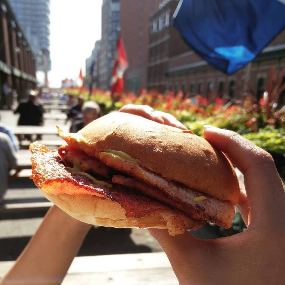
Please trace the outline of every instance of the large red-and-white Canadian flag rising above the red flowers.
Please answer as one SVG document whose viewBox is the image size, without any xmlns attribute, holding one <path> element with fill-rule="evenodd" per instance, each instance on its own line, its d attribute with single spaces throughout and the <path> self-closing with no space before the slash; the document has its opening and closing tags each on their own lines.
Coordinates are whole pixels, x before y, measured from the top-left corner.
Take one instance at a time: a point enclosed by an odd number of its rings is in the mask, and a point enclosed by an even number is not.
<svg viewBox="0 0 285 285">
<path fill-rule="evenodd" d="M 123 75 L 125 70 L 128 68 L 128 60 L 126 57 L 126 52 L 121 37 L 118 37 L 117 42 L 117 52 L 115 57 L 115 63 L 113 67 L 113 74 L 111 80 L 111 96 L 113 98 L 115 93 L 123 92 L 124 90 L 124 80 Z"/>
</svg>

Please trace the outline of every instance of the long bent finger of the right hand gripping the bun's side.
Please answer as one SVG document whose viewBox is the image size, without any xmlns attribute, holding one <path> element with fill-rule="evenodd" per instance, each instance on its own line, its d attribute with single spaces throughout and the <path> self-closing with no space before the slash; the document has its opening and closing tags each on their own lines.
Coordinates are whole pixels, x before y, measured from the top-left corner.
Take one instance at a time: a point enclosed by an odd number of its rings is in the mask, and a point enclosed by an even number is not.
<svg viewBox="0 0 285 285">
<path fill-rule="evenodd" d="M 244 174 L 251 220 L 270 223 L 285 215 L 285 194 L 274 161 L 269 153 L 239 134 L 205 126 L 204 137 L 230 159 Z"/>
</svg>

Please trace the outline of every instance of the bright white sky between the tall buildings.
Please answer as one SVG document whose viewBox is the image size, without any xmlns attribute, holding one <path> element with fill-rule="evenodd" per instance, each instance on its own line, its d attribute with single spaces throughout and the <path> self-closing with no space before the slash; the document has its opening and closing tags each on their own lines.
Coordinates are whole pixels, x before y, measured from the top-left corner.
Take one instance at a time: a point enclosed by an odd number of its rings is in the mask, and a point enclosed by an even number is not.
<svg viewBox="0 0 285 285">
<path fill-rule="evenodd" d="M 85 59 L 101 39 L 102 0 L 50 0 L 50 87 L 61 80 L 85 75 Z M 43 82 L 43 72 L 37 79 Z"/>
</svg>

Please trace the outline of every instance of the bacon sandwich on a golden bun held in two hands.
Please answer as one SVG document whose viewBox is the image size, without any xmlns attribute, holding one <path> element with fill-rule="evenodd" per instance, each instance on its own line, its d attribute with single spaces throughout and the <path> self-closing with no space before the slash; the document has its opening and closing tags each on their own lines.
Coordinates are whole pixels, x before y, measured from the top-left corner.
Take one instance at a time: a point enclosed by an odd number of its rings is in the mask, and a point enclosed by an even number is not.
<svg viewBox="0 0 285 285">
<path fill-rule="evenodd" d="M 110 113 L 50 151 L 30 145 L 34 183 L 70 216 L 116 228 L 168 229 L 207 221 L 228 229 L 239 200 L 227 157 L 191 131 L 128 113 Z"/>
</svg>

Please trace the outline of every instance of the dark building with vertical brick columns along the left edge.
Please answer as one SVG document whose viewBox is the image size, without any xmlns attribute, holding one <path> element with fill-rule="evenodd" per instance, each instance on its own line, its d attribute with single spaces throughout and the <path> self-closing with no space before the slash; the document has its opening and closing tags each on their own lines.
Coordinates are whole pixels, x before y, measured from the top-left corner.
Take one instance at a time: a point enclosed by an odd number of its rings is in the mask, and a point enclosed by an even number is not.
<svg viewBox="0 0 285 285">
<path fill-rule="evenodd" d="M 0 97 L 3 84 L 16 89 L 24 97 L 36 84 L 36 58 L 6 0 L 0 0 Z M 11 98 L 6 98 L 7 104 Z M 2 102 L 3 103 L 3 102 Z"/>
</svg>

